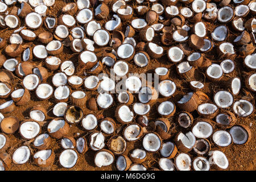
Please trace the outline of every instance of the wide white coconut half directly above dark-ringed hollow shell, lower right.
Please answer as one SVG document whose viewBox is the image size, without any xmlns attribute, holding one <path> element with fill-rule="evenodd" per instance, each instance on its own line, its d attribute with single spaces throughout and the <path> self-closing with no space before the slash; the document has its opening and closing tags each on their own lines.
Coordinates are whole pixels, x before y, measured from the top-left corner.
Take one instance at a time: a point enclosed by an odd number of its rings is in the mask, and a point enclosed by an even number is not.
<svg viewBox="0 0 256 182">
<path fill-rule="evenodd" d="M 197 122 L 192 128 L 192 133 L 197 138 L 208 138 L 213 133 L 213 127 L 208 122 Z"/>
</svg>

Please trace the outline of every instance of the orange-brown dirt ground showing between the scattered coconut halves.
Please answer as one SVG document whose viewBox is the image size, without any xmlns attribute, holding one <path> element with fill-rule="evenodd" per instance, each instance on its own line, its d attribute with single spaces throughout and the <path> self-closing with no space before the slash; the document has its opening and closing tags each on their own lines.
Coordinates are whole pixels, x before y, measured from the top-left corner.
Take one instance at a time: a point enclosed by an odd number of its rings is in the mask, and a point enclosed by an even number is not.
<svg viewBox="0 0 256 182">
<path fill-rule="evenodd" d="M 56 15 L 56 16 L 60 15 L 59 10 L 61 9 L 61 7 L 63 7 L 63 5 L 64 5 L 64 1 L 55 1 L 55 5 L 52 7 L 52 9 L 49 10 L 49 14 Z M 126 23 L 129 23 L 129 22 L 126 22 Z M 210 31 L 213 30 L 214 25 L 210 24 L 210 23 L 207 23 L 207 24 L 208 24 L 207 28 L 208 28 L 208 34 L 209 34 Z M 23 26 L 23 25 L 24 25 L 24 22 L 21 22 L 20 26 Z M 123 27 L 126 27 L 126 26 L 123 26 Z M 18 29 L 18 28 L 15 28 L 15 29 Z M 14 30 L 10 30 L 10 29 L 3 30 L 0 28 L 0 36 L 3 38 L 9 38 L 10 35 L 13 33 L 13 31 Z M 51 31 L 53 33 L 53 30 L 47 30 L 46 27 L 44 27 L 44 26 L 42 26 L 38 30 L 35 30 L 35 33 L 36 33 L 36 35 L 38 35 L 40 32 L 43 32 L 43 31 Z M 232 34 L 233 33 L 230 32 L 230 35 L 232 35 Z M 135 36 L 134 38 L 138 40 L 137 36 Z M 156 44 L 160 44 L 159 39 L 154 39 L 153 42 Z M 35 41 L 32 43 L 28 43 L 28 42 L 25 42 L 25 43 L 36 44 L 38 42 Z M 173 45 L 177 45 L 177 44 L 174 43 Z M 165 49 L 167 49 L 167 48 L 168 47 L 165 47 Z M 3 49 L 1 50 L 1 52 L 3 53 Z M 63 53 L 58 55 L 58 57 L 62 61 L 72 60 L 73 63 L 77 66 L 77 63 L 78 63 L 77 56 L 78 55 L 79 54 L 73 53 L 69 48 L 65 47 Z M 216 53 L 214 51 L 212 51 L 212 52 L 206 53 L 204 55 L 204 57 L 208 57 L 210 60 L 212 60 L 213 63 L 220 64 L 221 59 L 218 59 L 217 56 L 214 57 L 214 55 L 216 55 Z M 18 57 L 17 59 L 18 59 L 18 61 L 20 61 L 20 57 Z M 207 93 L 210 98 L 213 98 L 213 93 L 217 92 L 218 90 L 221 90 L 221 89 L 230 90 L 229 85 L 227 84 L 228 83 L 227 81 L 230 78 L 238 76 L 238 77 L 242 78 L 242 80 L 243 80 L 242 72 L 243 71 L 247 72 L 244 65 L 242 64 L 243 57 L 237 56 L 236 60 L 234 60 L 234 61 L 236 62 L 236 70 L 228 75 L 224 75 L 223 79 L 220 82 L 209 81 L 205 77 L 204 69 L 196 69 L 195 76 L 194 76 L 194 78 L 191 78 L 191 80 L 197 80 L 197 81 L 203 82 L 203 84 L 205 85 L 203 92 Z M 39 64 L 44 65 L 44 63 L 43 63 L 44 61 L 33 60 L 32 62 L 35 63 L 36 65 L 39 65 Z M 131 72 L 131 73 L 145 73 L 145 72 L 151 73 L 152 70 L 157 67 L 166 67 L 166 68 L 170 69 L 170 78 L 169 79 L 174 81 L 177 86 L 176 92 L 173 96 L 167 97 L 167 98 L 159 96 L 159 100 L 156 101 L 154 104 L 151 104 L 151 111 L 147 115 L 148 119 L 150 121 L 154 121 L 156 118 L 160 117 L 160 115 L 158 115 L 158 113 L 157 113 L 157 107 L 161 102 L 168 100 L 168 101 L 172 101 L 172 102 L 176 103 L 181 98 L 181 96 L 183 94 L 190 91 L 188 83 L 191 80 L 184 80 L 183 78 L 179 77 L 176 72 L 176 66 L 174 64 L 172 64 L 170 61 L 168 61 L 166 55 L 164 55 L 159 60 L 151 60 L 150 63 L 148 63 L 147 67 L 143 67 L 143 68 L 138 68 L 132 61 L 128 64 L 129 64 L 129 72 Z M 109 72 L 109 69 L 110 68 L 104 66 L 104 72 Z M 47 79 L 48 83 L 51 83 L 51 79 L 52 79 L 52 76 L 54 73 L 56 73 L 56 72 L 49 72 L 49 78 Z M 76 72 L 75 72 L 75 75 L 77 75 Z M 82 78 L 85 77 L 82 73 L 78 76 L 81 76 Z M 20 82 L 21 80 L 19 78 L 16 78 L 16 79 L 17 79 L 17 81 L 15 81 L 15 88 L 22 88 L 22 82 Z M 244 88 L 245 87 L 244 82 L 242 82 L 242 84 L 243 84 L 242 87 Z M 96 91 L 91 92 L 91 91 L 85 90 L 84 87 L 81 87 L 80 89 L 86 91 L 88 98 L 97 97 L 98 93 Z M 236 96 L 234 98 L 234 100 L 237 101 L 240 98 L 245 98 L 246 100 L 250 100 L 251 102 L 253 102 L 255 104 L 255 102 L 254 102 L 255 94 L 249 93 L 247 91 L 247 89 L 242 89 L 240 94 L 238 94 L 238 96 Z M 49 100 L 40 101 L 40 100 L 38 100 L 38 98 L 35 97 L 35 93 L 31 92 L 31 101 L 28 102 L 27 105 L 17 106 L 16 109 L 12 113 L 4 114 L 4 115 L 5 115 L 5 117 L 12 115 L 12 116 L 17 117 L 20 121 L 23 121 L 24 119 L 28 119 L 28 117 L 29 117 L 28 111 L 31 109 L 32 106 L 42 105 L 48 111 L 46 121 L 44 121 L 42 124 L 43 127 L 42 127 L 41 133 L 44 133 L 44 132 L 46 132 L 48 122 L 51 121 L 52 118 L 54 118 L 54 115 L 52 113 L 52 108 L 55 104 L 56 104 L 56 102 L 52 98 L 50 98 Z M 71 104 L 71 103 L 68 102 L 68 104 Z M 117 104 L 117 100 L 115 97 L 113 105 L 110 106 L 106 110 L 99 110 L 99 111 L 93 112 L 93 111 L 87 109 L 86 106 L 82 107 L 82 109 L 83 109 L 85 115 L 89 114 L 89 113 L 93 113 L 95 115 L 103 114 L 104 117 L 114 118 L 114 110 L 115 110 L 115 107 L 117 107 L 117 106 L 118 106 L 118 104 Z M 179 108 L 176 108 L 176 113 L 178 113 L 179 111 L 180 111 Z M 194 111 L 192 114 L 193 114 L 194 118 L 199 117 L 199 115 L 196 113 L 196 111 Z M 137 117 L 138 116 L 135 115 L 135 118 L 137 118 Z M 185 130 L 181 129 L 179 126 L 177 126 L 174 118 L 175 118 L 175 115 L 174 115 L 174 117 L 171 117 L 169 119 L 172 124 L 171 125 L 171 133 L 173 134 L 172 135 L 173 138 L 171 139 L 172 141 L 173 141 L 177 131 L 185 131 Z M 231 146 L 228 146 L 228 147 L 214 147 L 214 145 L 212 144 L 212 150 L 221 150 L 227 156 L 227 158 L 229 160 L 228 170 L 255 170 L 256 169 L 256 148 L 255 148 L 256 147 L 256 140 L 255 140 L 256 126 L 255 126 L 255 121 L 256 121 L 255 114 L 254 115 L 252 114 L 247 118 L 237 117 L 237 124 L 243 124 L 243 125 L 250 127 L 252 136 L 251 136 L 250 142 L 248 142 L 247 144 L 245 144 L 243 146 L 237 146 L 236 144 L 232 144 Z M 121 124 L 117 123 L 117 128 L 118 127 L 123 127 L 123 126 Z M 99 127 L 97 127 L 96 130 L 100 131 Z M 122 131 L 120 131 L 120 132 L 122 132 Z M 80 135 L 77 136 L 77 133 L 80 133 Z M 73 137 L 75 137 L 76 139 L 78 137 L 85 137 L 86 139 L 88 139 L 89 133 L 85 130 L 82 130 L 81 123 L 77 123 L 76 125 L 72 125 L 71 135 Z M 96 167 L 93 162 L 94 154 L 96 152 L 94 152 L 92 150 L 88 150 L 88 152 L 86 152 L 84 155 L 79 154 L 79 160 L 75 167 L 73 167 L 71 169 L 61 167 L 59 164 L 58 156 L 63 149 L 60 146 L 60 140 L 56 140 L 56 139 L 52 140 L 52 143 L 50 146 L 50 148 L 52 148 L 52 150 L 56 154 L 54 164 L 48 168 L 40 168 L 40 167 L 36 166 L 36 164 L 34 163 L 34 160 L 32 159 L 32 155 L 35 154 L 36 151 L 38 151 L 38 150 L 35 150 L 35 148 L 33 148 L 33 146 L 32 146 L 33 140 L 26 141 L 26 140 L 22 139 L 18 132 L 16 132 L 14 135 L 9 135 L 9 137 L 11 139 L 11 147 L 7 150 L 7 152 L 11 156 L 13 155 L 13 152 L 15 151 L 15 149 L 22 146 L 23 144 L 26 144 L 27 146 L 29 146 L 31 148 L 31 152 L 32 152 L 31 158 L 30 158 L 30 160 L 28 160 L 27 163 L 22 164 L 22 165 L 12 164 L 12 166 L 9 168 L 9 170 L 93 170 L 93 171 L 94 170 L 116 170 L 115 163 L 113 163 L 111 166 L 108 166 L 108 167 L 102 167 L 102 168 Z M 109 139 L 109 137 L 106 137 L 106 140 L 108 140 L 108 139 Z M 125 151 L 124 154 L 128 155 L 129 152 L 131 150 L 133 150 L 133 148 L 135 148 L 135 147 L 139 147 L 139 148 L 142 147 L 142 138 L 135 142 L 127 142 L 127 150 Z M 193 152 L 189 152 L 189 155 L 191 156 L 191 158 L 196 157 L 196 155 Z M 147 153 L 147 160 L 145 162 L 143 162 L 143 164 L 147 168 L 151 168 L 151 167 L 159 168 L 158 160 L 160 159 L 160 157 L 161 157 L 160 152 L 155 152 L 154 154 Z"/>
</svg>

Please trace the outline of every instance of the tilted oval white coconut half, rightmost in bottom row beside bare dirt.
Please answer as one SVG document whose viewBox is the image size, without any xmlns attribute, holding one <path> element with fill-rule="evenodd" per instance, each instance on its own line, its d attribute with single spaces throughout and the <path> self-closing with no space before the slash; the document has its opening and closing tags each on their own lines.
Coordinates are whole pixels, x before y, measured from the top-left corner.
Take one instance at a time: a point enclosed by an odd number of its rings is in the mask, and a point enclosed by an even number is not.
<svg viewBox="0 0 256 182">
<path fill-rule="evenodd" d="M 210 165 L 216 164 L 218 167 L 222 169 L 228 168 L 229 161 L 223 152 L 218 150 L 210 151 L 209 156 L 210 156 L 209 158 Z"/>
</svg>

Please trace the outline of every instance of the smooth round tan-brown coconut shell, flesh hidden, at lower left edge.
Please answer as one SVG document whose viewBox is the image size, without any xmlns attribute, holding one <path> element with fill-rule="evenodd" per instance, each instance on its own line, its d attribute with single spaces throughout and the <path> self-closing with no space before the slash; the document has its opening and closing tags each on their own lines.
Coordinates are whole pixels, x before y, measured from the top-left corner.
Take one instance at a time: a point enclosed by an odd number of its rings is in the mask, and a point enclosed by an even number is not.
<svg viewBox="0 0 256 182">
<path fill-rule="evenodd" d="M 3 118 L 0 128 L 3 133 L 13 134 L 19 129 L 19 120 L 16 117 Z"/>
</svg>

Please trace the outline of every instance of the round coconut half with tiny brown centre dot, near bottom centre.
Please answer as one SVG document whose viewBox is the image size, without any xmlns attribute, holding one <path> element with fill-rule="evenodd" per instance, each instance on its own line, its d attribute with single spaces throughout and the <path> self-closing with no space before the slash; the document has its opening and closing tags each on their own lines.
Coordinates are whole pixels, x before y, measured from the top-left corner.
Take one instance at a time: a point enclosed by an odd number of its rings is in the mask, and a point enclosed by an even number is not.
<svg viewBox="0 0 256 182">
<path fill-rule="evenodd" d="M 158 151 L 161 147 L 161 140 L 158 135 L 154 133 L 148 133 L 143 138 L 143 147 L 150 152 Z"/>
</svg>

